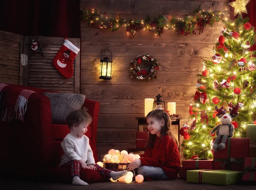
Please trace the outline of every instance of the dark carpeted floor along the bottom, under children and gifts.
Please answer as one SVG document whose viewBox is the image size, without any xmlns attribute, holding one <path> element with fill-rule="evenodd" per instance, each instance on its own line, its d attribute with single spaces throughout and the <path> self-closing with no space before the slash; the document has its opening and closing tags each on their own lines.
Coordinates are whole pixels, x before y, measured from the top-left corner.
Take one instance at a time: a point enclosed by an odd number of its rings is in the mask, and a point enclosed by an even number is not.
<svg viewBox="0 0 256 190">
<path fill-rule="evenodd" d="M 187 183 L 186 180 L 178 177 L 172 181 L 143 181 L 125 184 L 111 181 L 89 184 L 89 186 L 75 186 L 72 184 L 42 182 L 28 179 L 0 179 L 1 190 L 256 190 L 256 184 L 240 183 L 236 185 L 220 186 L 210 184 Z"/>
</svg>

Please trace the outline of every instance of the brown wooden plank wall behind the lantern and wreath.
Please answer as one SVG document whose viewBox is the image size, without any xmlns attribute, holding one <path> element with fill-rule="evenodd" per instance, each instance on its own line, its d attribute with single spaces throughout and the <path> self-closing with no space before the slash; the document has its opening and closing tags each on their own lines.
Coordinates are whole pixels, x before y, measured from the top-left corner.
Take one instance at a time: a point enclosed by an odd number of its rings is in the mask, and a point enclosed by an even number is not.
<svg viewBox="0 0 256 190">
<path fill-rule="evenodd" d="M 146 15 L 172 14 L 183 17 L 199 5 L 203 9 L 225 10 L 228 0 L 81 0 L 81 9 L 97 9 L 110 16 L 143 19 Z M 201 35 L 177 35 L 165 30 L 162 37 L 138 32 L 131 39 L 125 27 L 117 32 L 87 27 L 81 22 L 81 93 L 99 101 L 97 150 L 101 157 L 111 148 L 135 147 L 137 120 L 144 116 L 144 98 L 160 93 L 166 102 L 176 102 L 177 114 L 189 119 L 189 101 L 195 94 L 202 60 L 212 57 L 222 23 L 207 26 Z M 100 51 L 113 54 L 112 80 L 99 79 Z M 150 54 L 161 66 L 155 81 L 138 81 L 129 76 L 129 63 L 137 55 Z M 185 122 L 185 120 L 184 120 Z M 177 126 L 173 126 L 177 136 Z M 181 142 L 183 141 L 182 136 Z M 183 153 L 181 149 L 181 160 Z"/>
</svg>

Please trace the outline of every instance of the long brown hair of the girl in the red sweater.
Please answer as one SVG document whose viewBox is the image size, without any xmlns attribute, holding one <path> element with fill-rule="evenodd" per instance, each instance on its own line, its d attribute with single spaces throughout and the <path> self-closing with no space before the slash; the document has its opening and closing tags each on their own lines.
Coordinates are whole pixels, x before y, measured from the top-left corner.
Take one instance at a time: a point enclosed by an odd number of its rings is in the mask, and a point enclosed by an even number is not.
<svg viewBox="0 0 256 190">
<path fill-rule="evenodd" d="M 155 109 L 148 113 L 146 119 L 149 117 L 156 118 L 158 121 L 164 120 L 164 126 L 161 128 L 161 131 L 160 131 L 161 138 L 163 138 L 164 135 L 169 135 L 172 139 L 176 141 L 178 145 L 177 139 L 172 134 L 172 128 L 171 128 L 172 120 L 166 111 L 164 111 L 163 109 Z M 147 148 L 154 147 L 154 141 L 156 140 L 156 138 L 157 138 L 157 135 L 151 135 L 151 133 L 149 133 Z"/>
</svg>

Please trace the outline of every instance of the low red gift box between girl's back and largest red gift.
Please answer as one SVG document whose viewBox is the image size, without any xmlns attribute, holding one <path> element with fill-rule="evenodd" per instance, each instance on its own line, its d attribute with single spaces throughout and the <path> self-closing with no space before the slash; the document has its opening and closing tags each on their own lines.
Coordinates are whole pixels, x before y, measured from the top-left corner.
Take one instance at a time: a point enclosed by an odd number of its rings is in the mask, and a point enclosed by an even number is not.
<svg viewBox="0 0 256 190">
<path fill-rule="evenodd" d="M 213 169 L 213 159 L 208 160 L 184 160 L 182 161 L 181 177 L 186 179 L 187 170 Z"/>
</svg>

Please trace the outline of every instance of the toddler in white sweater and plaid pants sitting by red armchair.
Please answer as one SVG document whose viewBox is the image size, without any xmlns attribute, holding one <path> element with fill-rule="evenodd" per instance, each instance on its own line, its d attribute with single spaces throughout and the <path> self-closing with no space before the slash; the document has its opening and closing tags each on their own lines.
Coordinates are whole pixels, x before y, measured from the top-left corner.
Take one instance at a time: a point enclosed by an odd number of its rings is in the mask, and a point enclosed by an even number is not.
<svg viewBox="0 0 256 190">
<path fill-rule="evenodd" d="M 88 125 L 92 122 L 92 117 L 86 110 L 71 112 L 66 121 L 70 133 L 61 142 L 64 155 L 61 157 L 60 167 L 71 167 L 73 185 L 88 185 L 79 177 L 80 171 L 83 169 L 97 170 L 102 176 L 113 178 L 113 180 L 127 173 L 126 170 L 114 172 L 95 164 L 89 138 L 84 135 L 87 132 Z"/>
</svg>

